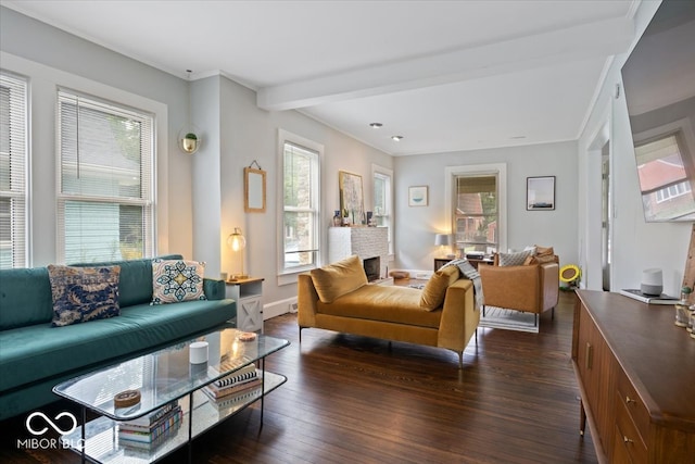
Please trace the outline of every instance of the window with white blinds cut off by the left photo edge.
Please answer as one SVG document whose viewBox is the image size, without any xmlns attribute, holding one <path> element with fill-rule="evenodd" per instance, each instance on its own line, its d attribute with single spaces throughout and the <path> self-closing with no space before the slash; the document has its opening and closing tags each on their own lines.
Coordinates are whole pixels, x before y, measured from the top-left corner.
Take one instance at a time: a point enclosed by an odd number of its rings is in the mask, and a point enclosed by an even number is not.
<svg viewBox="0 0 695 464">
<path fill-rule="evenodd" d="M 0 72 L 0 268 L 27 265 L 27 84 Z"/>
</svg>

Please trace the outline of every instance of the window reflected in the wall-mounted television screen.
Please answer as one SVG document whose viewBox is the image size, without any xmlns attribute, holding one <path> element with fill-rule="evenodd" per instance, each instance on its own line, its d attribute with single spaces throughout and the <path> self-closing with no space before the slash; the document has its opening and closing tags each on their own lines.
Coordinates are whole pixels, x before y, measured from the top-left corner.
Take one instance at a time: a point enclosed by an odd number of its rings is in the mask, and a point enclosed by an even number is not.
<svg viewBox="0 0 695 464">
<path fill-rule="evenodd" d="M 635 145 L 637 175 L 647 221 L 695 217 L 695 198 L 680 131 Z"/>
</svg>

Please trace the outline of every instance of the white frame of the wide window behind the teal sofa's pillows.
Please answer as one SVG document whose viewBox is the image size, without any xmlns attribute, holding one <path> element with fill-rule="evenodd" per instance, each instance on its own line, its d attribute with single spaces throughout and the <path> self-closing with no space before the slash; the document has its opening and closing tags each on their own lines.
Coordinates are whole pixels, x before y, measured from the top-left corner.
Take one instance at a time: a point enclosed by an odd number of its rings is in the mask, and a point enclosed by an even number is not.
<svg viewBox="0 0 695 464">
<path fill-rule="evenodd" d="M 141 147 L 144 147 L 146 153 L 140 158 L 140 188 L 139 198 L 136 197 L 117 197 L 117 196 L 96 196 L 96 195 L 77 195 L 64 192 L 63 186 L 63 152 L 62 152 L 62 111 L 61 104 L 67 101 L 68 98 L 74 98 L 77 104 L 84 102 L 85 106 L 92 106 L 96 111 L 102 111 L 108 113 L 112 110 L 111 114 L 118 116 L 132 115 L 132 118 L 139 118 L 140 122 L 146 122 L 149 125 L 149 139 L 141 142 Z M 66 262 L 66 241 L 67 235 L 65 230 L 65 209 L 68 202 L 79 202 L 83 204 L 103 204 L 112 203 L 123 206 L 139 206 L 142 208 L 142 256 L 153 256 L 156 250 L 156 208 L 155 208 L 155 178 L 156 178 L 156 117 L 150 111 L 136 109 L 125 103 L 114 102 L 105 100 L 98 96 L 88 95 L 78 90 L 74 90 L 66 87 L 56 88 L 56 109 L 55 109 L 55 152 L 56 152 L 56 184 L 55 184 L 55 204 L 56 204 L 56 260 L 60 263 Z M 103 165 L 102 165 L 103 166 Z M 118 251 L 121 252 L 121 251 Z M 127 256 L 121 256 L 126 259 Z M 75 260 L 70 260 L 71 262 Z M 90 261 L 89 259 L 79 259 L 78 262 Z M 98 256 L 94 261 L 111 261 L 111 259 L 103 259 Z"/>
</svg>

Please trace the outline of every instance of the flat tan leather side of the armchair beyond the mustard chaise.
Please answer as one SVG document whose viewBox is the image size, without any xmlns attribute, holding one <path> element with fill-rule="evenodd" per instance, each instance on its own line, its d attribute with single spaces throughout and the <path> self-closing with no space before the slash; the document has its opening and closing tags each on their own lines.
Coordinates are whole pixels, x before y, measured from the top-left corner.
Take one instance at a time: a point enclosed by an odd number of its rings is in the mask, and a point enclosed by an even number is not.
<svg viewBox="0 0 695 464">
<path fill-rule="evenodd" d="M 541 312 L 539 265 L 479 266 L 485 305 Z"/>
</svg>

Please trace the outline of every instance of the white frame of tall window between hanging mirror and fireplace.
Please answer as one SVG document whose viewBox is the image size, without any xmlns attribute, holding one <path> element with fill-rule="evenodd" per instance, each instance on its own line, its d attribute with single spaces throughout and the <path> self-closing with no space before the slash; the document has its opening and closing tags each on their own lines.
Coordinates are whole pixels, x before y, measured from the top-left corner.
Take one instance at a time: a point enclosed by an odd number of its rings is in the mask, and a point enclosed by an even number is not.
<svg viewBox="0 0 695 464">
<path fill-rule="evenodd" d="M 296 212 L 308 212 L 313 213 L 313 224 L 312 234 L 315 237 L 315 260 L 311 265 L 304 266 L 292 266 L 287 267 L 285 263 L 285 147 L 286 145 L 294 146 L 299 149 L 306 150 L 307 152 L 315 153 L 316 156 L 312 160 L 313 168 L 312 168 L 312 203 L 315 204 L 314 209 L 295 209 L 290 206 L 292 211 Z M 278 225 L 277 227 L 277 273 L 278 273 L 278 285 L 287 285 L 296 283 L 296 276 L 301 273 L 311 271 L 313 268 L 319 267 L 324 260 L 324 250 L 325 250 L 325 239 L 321 234 L 321 217 L 323 217 L 323 196 L 321 196 L 321 177 L 323 177 L 323 158 L 324 158 L 324 146 L 317 143 L 313 140 L 308 140 L 304 137 L 298 136 L 295 134 L 289 133 L 283 129 L 278 129 L 278 163 L 280 173 L 278 180 Z"/>
</svg>

